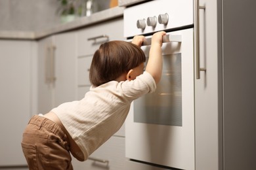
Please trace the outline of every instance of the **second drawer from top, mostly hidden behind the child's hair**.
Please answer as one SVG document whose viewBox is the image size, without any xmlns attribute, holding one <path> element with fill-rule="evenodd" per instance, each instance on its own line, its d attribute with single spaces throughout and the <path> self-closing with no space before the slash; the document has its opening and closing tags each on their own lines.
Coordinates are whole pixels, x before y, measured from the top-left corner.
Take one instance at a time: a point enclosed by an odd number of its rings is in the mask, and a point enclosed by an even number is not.
<svg viewBox="0 0 256 170">
<path fill-rule="evenodd" d="M 78 86 L 91 86 L 89 80 L 89 71 L 93 56 L 84 56 L 77 59 L 77 85 Z"/>
</svg>

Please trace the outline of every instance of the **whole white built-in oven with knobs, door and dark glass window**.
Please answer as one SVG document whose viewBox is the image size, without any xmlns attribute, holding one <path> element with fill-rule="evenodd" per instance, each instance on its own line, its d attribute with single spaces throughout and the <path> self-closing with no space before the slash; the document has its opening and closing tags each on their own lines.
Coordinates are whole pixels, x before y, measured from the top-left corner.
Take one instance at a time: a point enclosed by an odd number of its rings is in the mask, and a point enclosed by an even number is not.
<svg viewBox="0 0 256 170">
<path fill-rule="evenodd" d="M 192 0 L 148 1 L 124 10 L 127 39 L 164 30 L 156 92 L 133 102 L 125 122 L 126 169 L 194 169 L 194 24 Z"/>
</svg>

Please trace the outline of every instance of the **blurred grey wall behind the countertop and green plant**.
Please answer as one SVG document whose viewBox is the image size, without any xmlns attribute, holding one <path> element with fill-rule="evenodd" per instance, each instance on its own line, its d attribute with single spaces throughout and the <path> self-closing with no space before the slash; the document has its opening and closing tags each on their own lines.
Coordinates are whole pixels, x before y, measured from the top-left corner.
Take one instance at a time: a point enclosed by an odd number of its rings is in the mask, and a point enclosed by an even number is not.
<svg viewBox="0 0 256 170">
<path fill-rule="evenodd" d="M 85 1 L 85 0 L 81 0 Z M 109 7 L 109 0 L 94 0 L 96 9 Z M 38 31 L 60 24 L 58 0 L 0 0 L 0 31 Z"/>
</svg>

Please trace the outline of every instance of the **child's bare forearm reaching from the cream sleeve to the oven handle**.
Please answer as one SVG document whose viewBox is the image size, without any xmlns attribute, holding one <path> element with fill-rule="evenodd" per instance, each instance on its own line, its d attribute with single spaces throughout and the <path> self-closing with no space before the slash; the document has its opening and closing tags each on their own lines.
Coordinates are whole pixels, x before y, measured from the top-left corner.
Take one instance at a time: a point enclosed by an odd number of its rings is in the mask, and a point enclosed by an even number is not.
<svg viewBox="0 0 256 170">
<path fill-rule="evenodd" d="M 165 31 L 154 33 L 154 35 L 152 36 L 148 64 L 146 65 L 146 71 L 153 76 L 154 80 L 156 81 L 156 84 L 160 82 L 161 72 L 163 69 L 163 59 L 161 56 L 161 45 L 163 44 L 163 35 L 166 35 Z"/>
</svg>

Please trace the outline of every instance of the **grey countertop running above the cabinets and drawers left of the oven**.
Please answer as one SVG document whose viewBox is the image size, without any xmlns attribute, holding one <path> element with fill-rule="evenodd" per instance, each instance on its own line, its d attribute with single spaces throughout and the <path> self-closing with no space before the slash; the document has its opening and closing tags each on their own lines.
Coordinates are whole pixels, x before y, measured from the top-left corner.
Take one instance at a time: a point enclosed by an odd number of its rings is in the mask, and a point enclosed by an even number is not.
<svg viewBox="0 0 256 170">
<path fill-rule="evenodd" d="M 110 20 L 112 18 L 117 18 L 123 16 L 123 7 L 114 7 L 112 9 L 102 10 L 96 12 L 91 16 L 84 16 L 78 18 L 72 22 L 66 24 L 59 24 L 50 29 L 44 29 L 40 31 L 1 31 L 0 30 L 0 39 L 28 39 L 28 40 L 37 40 L 49 35 L 56 33 L 61 33 L 64 31 L 69 31 L 72 29 L 77 29 L 79 27 L 85 27 L 87 25 L 96 24 L 98 22 L 103 22 Z"/>
</svg>

